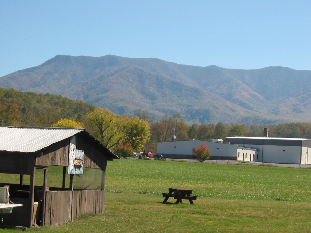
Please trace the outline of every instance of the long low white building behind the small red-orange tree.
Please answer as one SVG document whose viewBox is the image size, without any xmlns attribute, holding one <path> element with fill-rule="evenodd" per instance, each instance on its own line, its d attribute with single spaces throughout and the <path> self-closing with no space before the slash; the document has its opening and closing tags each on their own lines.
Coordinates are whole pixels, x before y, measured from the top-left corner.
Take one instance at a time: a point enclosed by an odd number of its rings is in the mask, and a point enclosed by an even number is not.
<svg viewBox="0 0 311 233">
<path fill-rule="evenodd" d="M 158 142 L 157 153 L 163 154 L 167 158 L 195 159 L 195 149 L 201 146 L 202 143 L 210 148 L 211 159 L 253 161 L 256 154 L 256 149 L 224 143 L 221 139 Z"/>
</svg>

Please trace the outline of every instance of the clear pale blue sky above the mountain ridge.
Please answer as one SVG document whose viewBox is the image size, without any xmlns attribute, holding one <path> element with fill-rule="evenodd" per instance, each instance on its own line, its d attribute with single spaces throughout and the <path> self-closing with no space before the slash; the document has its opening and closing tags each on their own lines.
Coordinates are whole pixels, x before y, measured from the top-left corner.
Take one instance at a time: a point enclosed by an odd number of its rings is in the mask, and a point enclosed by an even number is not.
<svg viewBox="0 0 311 233">
<path fill-rule="evenodd" d="M 107 54 L 311 70 L 311 1 L 0 0 L 0 76 Z"/>
</svg>

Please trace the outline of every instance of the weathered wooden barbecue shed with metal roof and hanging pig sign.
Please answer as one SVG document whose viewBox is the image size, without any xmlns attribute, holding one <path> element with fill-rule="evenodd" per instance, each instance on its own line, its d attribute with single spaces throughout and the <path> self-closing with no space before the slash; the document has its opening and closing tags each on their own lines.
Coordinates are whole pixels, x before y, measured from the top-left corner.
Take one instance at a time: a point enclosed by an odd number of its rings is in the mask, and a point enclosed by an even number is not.
<svg viewBox="0 0 311 233">
<path fill-rule="evenodd" d="M 54 226 L 84 214 L 103 213 L 105 171 L 107 161 L 113 159 L 119 158 L 85 129 L 0 126 L 0 173 L 20 177 L 17 184 L 0 180 L 0 186 L 9 186 L 10 201 L 23 205 L 2 214 L 0 225 Z M 52 165 L 63 167 L 59 187 L 47 187 Z M 99 188 L 74 188 L 74 174 L 83 177 L 84 168 L 101 170 Z M 44 170 L 42 186 L 35 186 L 36 169 Z M 28 184 L 25 175 L 30 177 Z"/>
</svg>

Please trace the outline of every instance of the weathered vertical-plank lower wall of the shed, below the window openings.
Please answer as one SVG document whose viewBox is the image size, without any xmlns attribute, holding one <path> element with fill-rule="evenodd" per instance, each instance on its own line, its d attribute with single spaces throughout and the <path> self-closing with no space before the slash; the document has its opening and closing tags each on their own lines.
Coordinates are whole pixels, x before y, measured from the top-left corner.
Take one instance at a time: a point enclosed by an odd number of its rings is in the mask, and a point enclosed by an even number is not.
<svg viewBox="0 0 311 233">
<path fill-rule="evenodd" d="M 44 225 L 56 226 L 85 214 L 104 212 L 105 190 L 48 191 Z"/>
</svg>

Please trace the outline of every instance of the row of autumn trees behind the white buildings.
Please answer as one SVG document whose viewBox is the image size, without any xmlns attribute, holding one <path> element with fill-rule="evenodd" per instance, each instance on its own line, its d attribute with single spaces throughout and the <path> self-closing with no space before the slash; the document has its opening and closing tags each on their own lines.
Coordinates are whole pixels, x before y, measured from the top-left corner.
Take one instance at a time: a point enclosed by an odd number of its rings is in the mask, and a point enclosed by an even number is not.
<svg viewBox="0 0 311 233">
<path fill-rule="evenodd" d="M 268 129 L 269 137 L 311 138 L 310 122 L 266 125 L 218 122 L 217 124 L 193 123 L 188 126 L 178 113 L 173 116 L 164 115 L 160 120 L 149 122 L 151 137 L 146 148 L 150 151 L 156 150 L 157 142 L 172 140 L 197 139 L 207 141 L 213 138 L 225 140 L 225 137 L 233 136 L 263 137 L 264 128 Z"/>
</svg>

